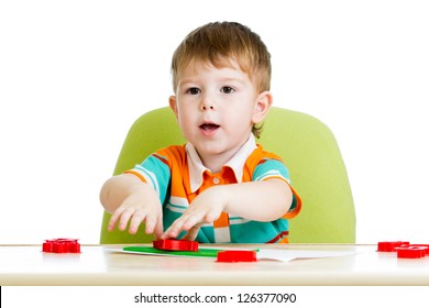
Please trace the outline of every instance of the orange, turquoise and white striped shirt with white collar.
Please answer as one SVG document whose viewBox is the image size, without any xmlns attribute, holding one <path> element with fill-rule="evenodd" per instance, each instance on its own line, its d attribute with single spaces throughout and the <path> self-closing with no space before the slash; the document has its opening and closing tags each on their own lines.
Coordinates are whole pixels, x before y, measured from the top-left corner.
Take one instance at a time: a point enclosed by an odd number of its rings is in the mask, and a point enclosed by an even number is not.
<svg viewBox="0 0 429 308">
<path fill-rule="evenodd" d="M 184 213 L 198 194 L 211 186 L 268 178 L 280 178 L 289 185 L 293 205 L 283 218 L 261 222 L 222 212 L 215 222 L 202 224 L 196 238 L 200 243 L 287 243 L 288 219 L 297 216 L 301 207 L 285 164 L 256 144 L 253 135 L 216 174 L 202 165 L 191 143 L 162 148 L 125 173 L 136 175 L 157 191 L 165 228 Z M 178 238 L 184 235 L 182 232 Z"/>
</svg>

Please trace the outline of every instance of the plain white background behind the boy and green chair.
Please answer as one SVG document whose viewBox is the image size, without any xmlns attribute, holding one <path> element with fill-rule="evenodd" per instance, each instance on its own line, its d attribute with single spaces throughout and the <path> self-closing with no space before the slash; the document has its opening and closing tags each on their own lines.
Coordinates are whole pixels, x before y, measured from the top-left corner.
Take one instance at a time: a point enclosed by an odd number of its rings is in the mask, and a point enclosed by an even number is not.
<svg viewBox="0 0 429 308">
<path fill-rule="evenodd" d="M 98 243 L 102 183 L 170 56 L 239 21 L 273 59 L 275 105 L 334 132 L 358 242 L 429 242 L 427 1 L 0 1 L 0 244 Z M 334 205 L 332 205 L 334 207 Z"/>
</svg>

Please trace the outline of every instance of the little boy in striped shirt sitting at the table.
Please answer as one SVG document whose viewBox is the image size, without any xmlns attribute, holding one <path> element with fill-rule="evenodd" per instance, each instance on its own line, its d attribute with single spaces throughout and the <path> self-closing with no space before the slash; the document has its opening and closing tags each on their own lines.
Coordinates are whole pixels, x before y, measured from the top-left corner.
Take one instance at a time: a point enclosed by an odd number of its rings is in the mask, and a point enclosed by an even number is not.
<svg viewBox="0 0 429 308">
<path fill-rule="evenodd" d="M 188 141 L 106 182 L 109 230 L 202 243 L 286 243 L 300 210 L 282 160 L 255 143 L 272 106 L 271 58 L 234 22 L 188 34 L 173 56 L 169 107 Z"/>
</svg>

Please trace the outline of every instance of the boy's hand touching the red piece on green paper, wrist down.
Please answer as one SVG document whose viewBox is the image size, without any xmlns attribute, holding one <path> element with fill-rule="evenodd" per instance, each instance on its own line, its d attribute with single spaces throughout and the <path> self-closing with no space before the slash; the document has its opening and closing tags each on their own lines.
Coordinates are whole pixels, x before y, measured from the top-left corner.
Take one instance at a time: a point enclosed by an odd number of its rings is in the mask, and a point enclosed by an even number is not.
<svg viewBox="0 0 429 308">
<path fill-rule="evenodd" d="M 227 205 L 221 197 L 221 189 L 215 188 L 221 188 L 221 186 L 211 187 L 198 195 L 183 216 L 173 222 L 161 239 L 175 239 L 182 231 L 187 231 L 183 239 L 194 241 L 202 224 L 217 220 Z"/>
</svg>

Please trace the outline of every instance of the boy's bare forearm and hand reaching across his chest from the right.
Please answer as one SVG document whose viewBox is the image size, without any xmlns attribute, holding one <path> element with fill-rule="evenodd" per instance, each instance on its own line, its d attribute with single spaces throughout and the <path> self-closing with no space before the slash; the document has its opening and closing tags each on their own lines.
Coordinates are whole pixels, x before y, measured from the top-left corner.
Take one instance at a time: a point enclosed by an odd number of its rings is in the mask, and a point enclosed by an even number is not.
<svg viewBox="0 0 429 308">
<path fill-rule="evenodd" d="M 289 210 L 292 202 L 292 189 L 279 178 L 213 186 L 196 197 L 162 238 L 176 238 L 188 231 L 186 239 L 194 240 L 199 227 L 213 222 L 222 211 L 250 220 L 274 221 Z"/>
</svg>

